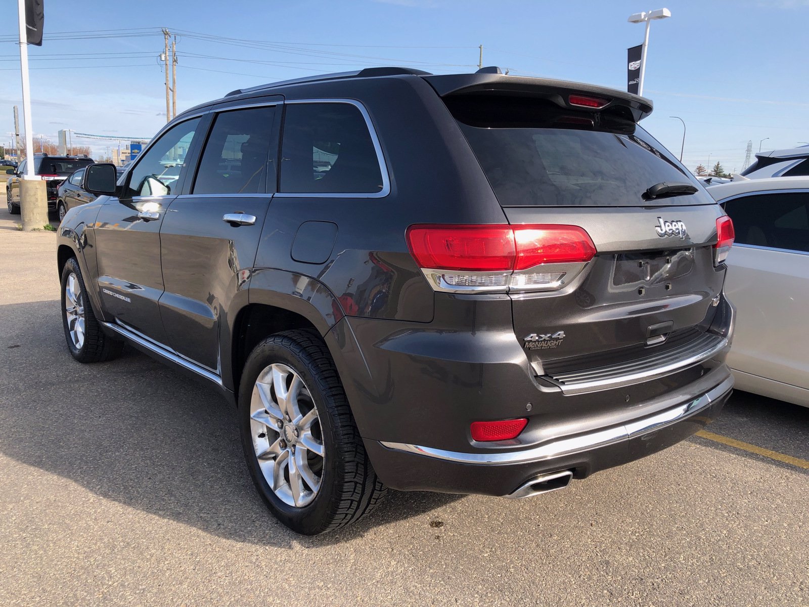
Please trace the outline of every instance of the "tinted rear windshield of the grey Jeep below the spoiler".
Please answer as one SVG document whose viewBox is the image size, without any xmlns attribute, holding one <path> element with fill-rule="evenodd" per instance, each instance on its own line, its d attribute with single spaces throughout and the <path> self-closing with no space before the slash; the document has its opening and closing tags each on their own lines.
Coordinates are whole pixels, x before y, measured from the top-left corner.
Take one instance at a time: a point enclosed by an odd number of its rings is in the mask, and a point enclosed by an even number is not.
<svg viewBox="0 0 809 607">
<path fill-rule="evenodd" d="M 650 186 L 697 180 L 621 108 L 575 112 L 504 96 L 447 98 L 502 206 L 712 204 L 702 194 L 644 201 Z"/>
</svg>

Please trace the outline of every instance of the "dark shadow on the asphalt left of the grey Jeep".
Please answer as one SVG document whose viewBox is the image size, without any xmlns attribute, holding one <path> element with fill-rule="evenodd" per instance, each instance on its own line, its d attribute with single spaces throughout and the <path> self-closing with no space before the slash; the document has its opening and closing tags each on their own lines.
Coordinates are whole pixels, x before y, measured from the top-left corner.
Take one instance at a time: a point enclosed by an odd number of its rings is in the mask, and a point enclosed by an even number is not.
<svg viewBox="0 0 809 607">
<path fill-rule="evenodd" d="M 316 547 L 461 497 L 394 492 L 352 527 L 300 537 L 256 494 L 234 411 L 213 390 L 130 349 L 75 362 L 56 300 L 0 305 L 0 336 L 0 452 L 105 499 L 235 541 Z"/>
</svg>

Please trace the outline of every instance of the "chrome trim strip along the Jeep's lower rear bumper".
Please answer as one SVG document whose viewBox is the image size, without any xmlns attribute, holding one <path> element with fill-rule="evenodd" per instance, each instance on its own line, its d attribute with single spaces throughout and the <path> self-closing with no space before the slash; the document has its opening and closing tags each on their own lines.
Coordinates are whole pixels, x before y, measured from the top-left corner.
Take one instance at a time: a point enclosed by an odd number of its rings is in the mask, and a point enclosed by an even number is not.
<svg viewBox="0 0 809 607">
<path fill-rule="evenodd" d="M 609 444 L 635 439 L 650 432 L 659 431 L 664 427 L 671 426 L 672 424 L 699 414 L 701 411 L 707 409 L 711 403 L 720 400 L 729 393 L 732 387 L 733 378 L 731 376 L 727 377 L 721 384 L 710 389 L 701 397 L 694 398 L 671 409 L 661 411 L 658 414 L 650 415 L 650 417 L 626 422 L 616 427 L 591 431 L 583 435 L 561 437 L 524 451 L 464 453 L 432 447 L 421 447 L 416 444 L 388 443 L 386 441 L 379 441 L 379 444 L 393 451 L 415 453 L 417 455 L 434 457 L 438 460 L 454 461 L 460 464 L 503 465 L 544 461 L 593 448 L 606 447 Z"/>
</svg>

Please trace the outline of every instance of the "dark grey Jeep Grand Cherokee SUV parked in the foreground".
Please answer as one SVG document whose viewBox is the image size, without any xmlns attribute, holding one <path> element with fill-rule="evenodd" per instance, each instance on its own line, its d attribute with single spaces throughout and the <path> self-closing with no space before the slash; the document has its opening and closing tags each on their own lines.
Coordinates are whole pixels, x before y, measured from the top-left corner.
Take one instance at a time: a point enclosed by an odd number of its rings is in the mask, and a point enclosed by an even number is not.
<svg viewBox="0 0 809 607">
<path fill-rule="evenodd" d="M 657 452 L 731 393 L 730 219 L 604 87 L 403 68 L 233 91 L 61 224 L 67 346 L 237 405 L 279 520 L 385 487 L 524 498 Z M 172 406 L 171 403 L 166 403 Z"/>
</svg>

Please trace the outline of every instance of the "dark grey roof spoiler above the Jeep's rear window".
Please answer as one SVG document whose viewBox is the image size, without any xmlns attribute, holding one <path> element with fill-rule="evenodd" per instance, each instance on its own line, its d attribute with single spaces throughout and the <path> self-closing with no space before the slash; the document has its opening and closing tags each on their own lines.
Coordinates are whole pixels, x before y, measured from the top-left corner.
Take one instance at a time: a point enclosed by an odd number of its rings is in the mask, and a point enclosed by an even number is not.
<svg viewBox="0 0 809 607">
<path fill-rule="evenodd" d="M 506 76 L 502 74 L 447 74 L 440 76 L 421 76 L 438 93 L 439 96 L 503 93 L 519 96 L 536 96 L 553 101 L 562 108 L 581 109 L 578 104 L 570 103 L 570 96 L 592 96 L 607 103 L 598 108 L 599 111 L 622 105 L 629 108 L 634 120 L 642 121 L 652 112 L 652 102 L 646 97 L 625 93 L 614 88 L 599 87 L 595 84 L 568 82 L 544 78 L 526 78 L 523 76 Z"/>
</svg>

